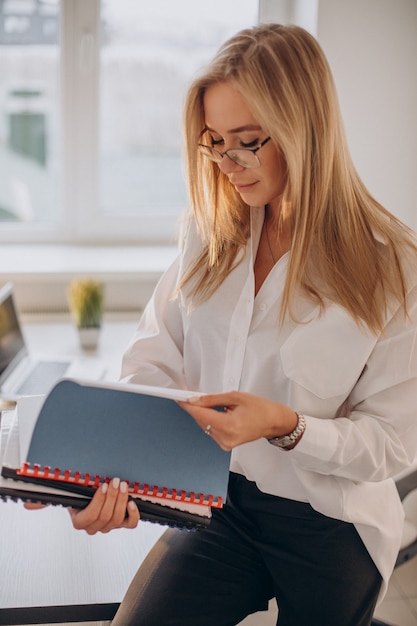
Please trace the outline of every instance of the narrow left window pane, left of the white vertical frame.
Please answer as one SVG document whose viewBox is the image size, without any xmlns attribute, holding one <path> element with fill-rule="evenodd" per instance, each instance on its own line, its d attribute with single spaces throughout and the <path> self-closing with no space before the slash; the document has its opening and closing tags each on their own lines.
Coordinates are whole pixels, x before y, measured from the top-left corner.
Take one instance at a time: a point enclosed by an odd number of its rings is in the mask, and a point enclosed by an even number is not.
<svg viewBox="0 0 417 626">
<path fill-rule="evenodd" d="M 57 217 L 59 6 L 0 1 L 0 220 Z"/>
</svg>

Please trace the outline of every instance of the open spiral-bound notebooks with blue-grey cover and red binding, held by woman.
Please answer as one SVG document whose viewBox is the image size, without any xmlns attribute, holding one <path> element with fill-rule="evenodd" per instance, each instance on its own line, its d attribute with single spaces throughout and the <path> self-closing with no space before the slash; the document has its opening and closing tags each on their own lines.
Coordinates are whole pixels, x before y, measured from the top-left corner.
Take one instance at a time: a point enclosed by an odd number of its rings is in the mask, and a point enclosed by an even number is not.
<svg viewBox="0 0 417 626">
<path fill-rule="evenodd" d="M 206 527 L 226 500 L 230 452 L 178 405 L 191 393 L 65 379 L 20 399 L 2 428 L 0 497 L 82 508 L 117 476 L 143 520 Z"/>
</svg>

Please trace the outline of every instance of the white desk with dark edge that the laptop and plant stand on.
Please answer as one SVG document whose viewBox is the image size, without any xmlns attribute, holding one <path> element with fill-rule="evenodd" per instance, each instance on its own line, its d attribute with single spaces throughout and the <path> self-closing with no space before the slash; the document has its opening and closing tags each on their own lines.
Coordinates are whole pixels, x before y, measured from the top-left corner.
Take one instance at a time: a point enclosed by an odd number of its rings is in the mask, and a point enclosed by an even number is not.
<svg viewBox="0 0 417 626">
<path fill-rule="evenodd" d="M 108 322 L 97 356 L 117 379 L 136 320 Z M 29 348 L 79 354 L 70 323 L 27 324 Z M 49 348 L 48 348 L 49 347 Z M 164 532 L 157 524 L 88 536 L 73 529 L 60 507 L 27 511 L 0 501 L 0 624 L 88 622 L 112 619 L 137 568 Z"/>
</svg>

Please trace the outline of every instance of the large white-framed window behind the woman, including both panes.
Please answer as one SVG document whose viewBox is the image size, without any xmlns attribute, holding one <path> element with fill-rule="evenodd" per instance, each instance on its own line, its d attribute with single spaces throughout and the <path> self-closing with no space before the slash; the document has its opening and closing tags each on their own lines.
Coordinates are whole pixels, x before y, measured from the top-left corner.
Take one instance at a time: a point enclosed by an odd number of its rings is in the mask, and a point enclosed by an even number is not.
<svg viewBox="0 0 417 626">
<path fill-rule="evenodd" d="M 166 242 L 182 103 L 258 0 L 0 0 L 0 240 Z"/>
</svg>

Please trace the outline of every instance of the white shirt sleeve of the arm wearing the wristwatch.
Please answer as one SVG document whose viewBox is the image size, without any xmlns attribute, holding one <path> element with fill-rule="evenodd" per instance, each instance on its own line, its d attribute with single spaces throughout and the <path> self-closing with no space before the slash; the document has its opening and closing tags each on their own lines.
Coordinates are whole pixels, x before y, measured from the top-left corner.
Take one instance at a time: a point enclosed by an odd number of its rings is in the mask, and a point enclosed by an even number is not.
<svg viewBox="0 0 417 626">
<path fill-rule="evenodd" d="M 417 456 L 417 287 L 406 317 L 397 310 L 381 334 L 346 403 L 333 420 L 307 415 L 287 454 L 296 467 L 353 481 L 380 481 Z"/>
</svg>

